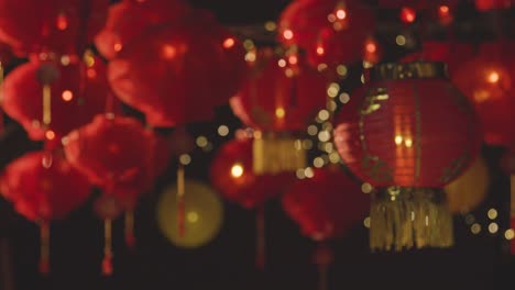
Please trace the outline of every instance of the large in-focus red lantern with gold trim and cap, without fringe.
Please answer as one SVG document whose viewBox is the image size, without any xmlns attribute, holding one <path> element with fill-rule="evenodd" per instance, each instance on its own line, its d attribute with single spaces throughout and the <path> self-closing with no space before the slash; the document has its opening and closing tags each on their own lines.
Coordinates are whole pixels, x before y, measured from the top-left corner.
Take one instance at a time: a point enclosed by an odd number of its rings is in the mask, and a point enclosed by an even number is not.
<svg viewBox="0 0 515 290">
<path fill-rule="evenodd" d="M 385 64 L 372 74 L 337 119 L 335 143 L 350 169 L 376 187 L 441 188 L 463 172 L 481 138 L 443 64 Z"/>
</svg>

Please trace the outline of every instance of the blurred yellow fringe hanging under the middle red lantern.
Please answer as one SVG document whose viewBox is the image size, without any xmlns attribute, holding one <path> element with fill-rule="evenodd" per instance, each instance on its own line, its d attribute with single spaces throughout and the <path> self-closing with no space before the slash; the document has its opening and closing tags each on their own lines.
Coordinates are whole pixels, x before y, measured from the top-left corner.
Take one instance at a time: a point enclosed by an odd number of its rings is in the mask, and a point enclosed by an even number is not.
<svg viewBox="0 0 515 290">
<path fill-rule="evenodd" d="M 307 166 L 306 150 L 300 140 L 293 136 L 254 133 L 252 144 L 253 171 L 256 175 L 296 171 Z"/>
</svg>

